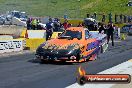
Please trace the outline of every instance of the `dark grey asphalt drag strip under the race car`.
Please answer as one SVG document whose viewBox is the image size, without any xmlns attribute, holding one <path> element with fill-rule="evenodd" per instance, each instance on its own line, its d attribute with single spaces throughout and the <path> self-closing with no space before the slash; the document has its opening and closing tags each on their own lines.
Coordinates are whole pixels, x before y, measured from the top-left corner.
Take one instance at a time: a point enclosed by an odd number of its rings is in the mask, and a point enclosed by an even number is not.
<svg viewBox="0 0 132 88">
<path fill-rule="evenodd" d="M 132 37 L 115 42 L 95 61 L 85 63 L 44 63 L 35 53 L 0 57 L 0 88 L 64 88 L 76 83 L 78 67 L 96 74 L 132 58 Z"/>
</svg>

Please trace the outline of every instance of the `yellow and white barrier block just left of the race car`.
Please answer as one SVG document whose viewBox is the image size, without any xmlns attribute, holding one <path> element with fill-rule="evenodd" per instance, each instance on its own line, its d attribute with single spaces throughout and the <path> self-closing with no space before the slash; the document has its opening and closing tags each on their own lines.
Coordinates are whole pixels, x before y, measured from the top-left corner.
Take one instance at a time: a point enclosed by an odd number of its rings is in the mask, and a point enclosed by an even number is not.
<svg viewBox="0 0 132 88">
<path fill-rule="evenodd" d="M 23 30 L 21 37 L 25 37 L 26 30 Z M 46 30 L 27 30 L 26 48 L 35 50 L 40 44 L 46 41 Z"/>
</svg>

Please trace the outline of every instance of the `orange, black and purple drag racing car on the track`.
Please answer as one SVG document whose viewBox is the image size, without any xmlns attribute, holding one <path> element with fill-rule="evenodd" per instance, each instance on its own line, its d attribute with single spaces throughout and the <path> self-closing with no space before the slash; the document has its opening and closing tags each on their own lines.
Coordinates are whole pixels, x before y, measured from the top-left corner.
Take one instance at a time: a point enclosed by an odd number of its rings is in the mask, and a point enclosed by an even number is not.
<svg viewBox="0 0 132 88">
<path fill-rule="evenodd" d="M 106 35 L 83 27 L 70 27 L 56 39 L 41 44 L 36 57 L 41 61 L 84 62 L 97 59 L 108 47 Z"/>
</svg>

